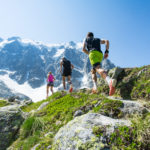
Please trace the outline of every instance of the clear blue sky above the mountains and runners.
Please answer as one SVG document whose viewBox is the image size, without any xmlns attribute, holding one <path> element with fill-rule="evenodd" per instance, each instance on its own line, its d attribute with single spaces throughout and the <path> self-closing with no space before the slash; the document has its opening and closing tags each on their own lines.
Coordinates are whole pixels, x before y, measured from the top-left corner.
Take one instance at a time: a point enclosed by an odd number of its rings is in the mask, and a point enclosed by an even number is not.
<svg viewBox="0 0 150 150">
<path fill-rule="evenodd" d="M 115 65 L 150 64 L 149 0 L 0 0 L 1 38 L 80 42 L 89 31 L 110 41 Z"/>
</svg>

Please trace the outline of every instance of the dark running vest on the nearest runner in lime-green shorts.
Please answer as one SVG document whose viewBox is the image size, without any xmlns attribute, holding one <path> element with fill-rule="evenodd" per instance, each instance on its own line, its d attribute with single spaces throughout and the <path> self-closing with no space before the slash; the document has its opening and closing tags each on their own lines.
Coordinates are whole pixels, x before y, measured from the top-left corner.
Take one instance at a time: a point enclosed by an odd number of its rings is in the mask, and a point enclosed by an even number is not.
<svg viewBox="0 0 150 150">
<path fill-rule="evenodd" d="M 90 52 L 92 50 L 97 50 L 102 53 L 100 41 L 101 40 L 99 38 L 91 38 L 91 37 L 86 38 L 85 43 L 88 51 Z"/>
</svg>

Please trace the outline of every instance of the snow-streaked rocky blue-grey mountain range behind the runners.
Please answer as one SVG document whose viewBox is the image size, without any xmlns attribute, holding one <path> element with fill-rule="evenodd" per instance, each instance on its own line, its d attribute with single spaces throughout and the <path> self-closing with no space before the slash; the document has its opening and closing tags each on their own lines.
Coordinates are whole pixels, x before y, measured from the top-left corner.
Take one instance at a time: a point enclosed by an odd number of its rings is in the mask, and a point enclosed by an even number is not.
<svg viewBox="0 0 150 150">
<path fill-rule="evenodd" d="M 82 52 L 82 42 L 75 43 L 73 41 L 62 44 L 43 44 L 20 37 L 11 37 L 7 40 L 0 38 L 0 80 L 9 89 L 17 90 L 16 92 L 21 92 L 31 98 L 33 98 L 32 90 L 34 89 L 42 88 L 45 95 L 46 77 L 49 71 L 56 78 L 55 87 L 60 89 L 62 86 L 60 74 L 62 57 L 69 59 L 75 66 L 72 72 L 74 87 L 90 87 L 89 59 Z M 105 60 L 103 66 L 111 69 L 114 64 Z M 8 80 L 10 81 L 8 82 Z M 13 85 L 15 86 L 13 87 Z M 25 88 L 30 88 L 30 90 L 27 92 Z"/>
</svg>

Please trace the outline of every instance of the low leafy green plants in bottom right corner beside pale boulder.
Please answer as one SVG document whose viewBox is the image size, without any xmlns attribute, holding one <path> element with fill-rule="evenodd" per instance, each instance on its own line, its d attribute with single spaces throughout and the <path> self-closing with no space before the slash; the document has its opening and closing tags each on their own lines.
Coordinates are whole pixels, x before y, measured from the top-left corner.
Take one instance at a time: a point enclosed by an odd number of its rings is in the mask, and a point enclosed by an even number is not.
<svg viewBox="0 0 150 150">
<path fill-rule="evenodd" d="M 110 136 L 112 149 L 150 149 L 150 113 L 134 116 L 132 126 L 120 126 Z"/>
</svg>

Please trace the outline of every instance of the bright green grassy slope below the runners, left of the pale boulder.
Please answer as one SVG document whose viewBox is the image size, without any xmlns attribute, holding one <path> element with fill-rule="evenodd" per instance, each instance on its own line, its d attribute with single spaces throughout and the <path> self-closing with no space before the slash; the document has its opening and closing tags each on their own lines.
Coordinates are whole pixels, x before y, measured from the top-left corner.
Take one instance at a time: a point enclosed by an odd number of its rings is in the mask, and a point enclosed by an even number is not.
<svg viewBox="0 0 150 150">
<path fill-rule="evenodd" d="M 73 114 L 79 108 L 85 106 L 93 108 L 93 112 L 97 112 L 99 106 L 93 107 L 98 101 L 103 101 L 101 107 L 109 114 L 111 110 L 106 110 L 114 101 L 109 100 L 100 94 L 84 94 L 82 92 L 66 94 L 64 92 L 57 92 L 47 100 L 32 103 L 27 107 L 22 108 L 23 111 L 29 112 L 37 109 L 41 103 L 48 101 L 49 104 L 41 111 L 35 113 L 24 122 L 19 133 L 19 139 L 13 143 L 14 149 L 29 150 L 36 143 L 41 143 L 41 147 L 45 148 L 53 141 L 54 135 L 57 131 L 73 119 Z M 118 106 L 119 103 L 119 106 Z M 114 108 L 120 107 L 120 101 L 116 103 Z M 105 107 L 103 107 L 105 106 Z M 87 110 L 83 111 L 87 113 Z M 118 115 L 118 114 L 117 114 Z M 47 137 L 44 135 L 50 133 Z"/>
</svg>

